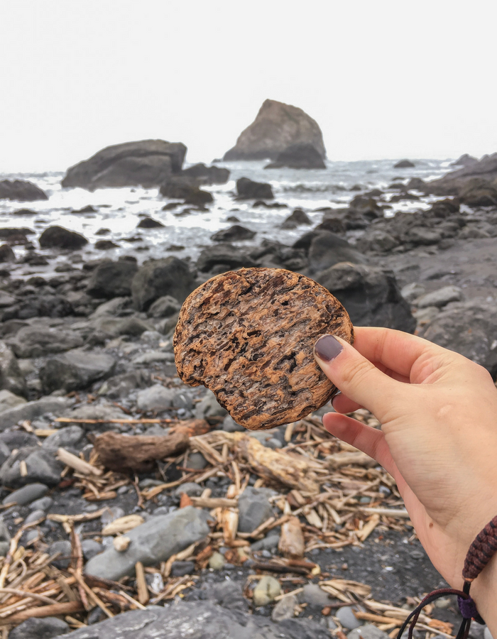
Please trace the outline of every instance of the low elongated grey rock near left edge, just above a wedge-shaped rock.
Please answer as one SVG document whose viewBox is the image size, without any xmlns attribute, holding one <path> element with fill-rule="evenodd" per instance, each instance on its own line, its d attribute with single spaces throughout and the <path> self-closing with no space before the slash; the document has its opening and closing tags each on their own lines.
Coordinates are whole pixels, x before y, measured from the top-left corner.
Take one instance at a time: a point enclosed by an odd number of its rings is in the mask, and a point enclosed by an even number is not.
<svg viewBox="0 0 497 639">
<path fill-rule="evenodd" d="M 43 357 L 83 345 L 82 337 L 60 327 L 26 326 L 9 342 L 18 357 Z"/>
</svg>

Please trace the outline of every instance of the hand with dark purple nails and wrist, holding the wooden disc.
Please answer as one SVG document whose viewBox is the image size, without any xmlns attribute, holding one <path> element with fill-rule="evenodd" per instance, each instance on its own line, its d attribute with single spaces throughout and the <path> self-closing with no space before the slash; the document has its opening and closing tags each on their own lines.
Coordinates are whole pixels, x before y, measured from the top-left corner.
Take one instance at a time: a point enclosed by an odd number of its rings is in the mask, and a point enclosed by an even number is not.
<svg viewBox="0 0 497 639">
<path fill-rule="evenodd" d="M 323 424 L 393 476 L 435 568 L 461 589 L 466 552 L 497 515 L 497 389 L 484 368 L 420 337 L 355 334 L 354 347 L 328 335 L 315 344 L 317 363 L 342 391 Z M 381 430 L 341 414 L 362 407 Z M 494 557 L 471 586 L 488 624 L 497 624 L 496 565 Z"/>
</svg>

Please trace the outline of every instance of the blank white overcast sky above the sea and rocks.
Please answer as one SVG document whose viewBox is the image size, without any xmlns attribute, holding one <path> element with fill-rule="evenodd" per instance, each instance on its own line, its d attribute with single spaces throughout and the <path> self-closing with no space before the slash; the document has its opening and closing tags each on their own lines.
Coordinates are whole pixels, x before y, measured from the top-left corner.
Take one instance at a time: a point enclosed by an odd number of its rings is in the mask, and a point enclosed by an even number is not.
<svg viewBox="0 0 497 639">
<path fill-rule="evenodd" d="M 0 171 L 109 144 L 209 162 L 264 99 L 320 124 L 332 160 L 497 151 L 497 3 L 0 0 Z"/>
</svg>

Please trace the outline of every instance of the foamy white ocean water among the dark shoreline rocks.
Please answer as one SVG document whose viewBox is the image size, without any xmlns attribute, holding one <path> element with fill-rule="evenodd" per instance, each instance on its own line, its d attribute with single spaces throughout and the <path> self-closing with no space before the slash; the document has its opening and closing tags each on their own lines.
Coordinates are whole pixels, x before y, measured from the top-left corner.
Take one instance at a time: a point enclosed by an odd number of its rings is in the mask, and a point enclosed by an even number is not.
<svg viewBox="0 0 497 639">
<path fill-rule="evenodd" d="M 0 174 L 0 180 L 30 180 L 42 188 L 48 195 L 44 202 L 11 202 L 0 200 L 0 226 L 23 226 L 35 231 L 29 236 L 38 247 L 38 237 L 45 228 L 53 224 L 83 234 L 89 244 L 80 251 L 84 261 L 102 257 L 116 259 L 121 255 L 132 254 L 143 262 L 148 258 L 160 258 L 175 255 L 180 258 L 197 258 L 204 248 L 212 244 L 210 237 L 215 231 L 231 226 L 226 218 L 235 215 L 240 224 L 256 231 L 251 241 L 239 242 L 239 246 L 256 246 L 263 239 L 278 240 L 283 244 L 293 244 L 308 226 L 294 230 L 280 229 L 280 224 L 296 207 L 300 207 L 318 224 L 322 219 L 321 207 L 344 207 L 360 191 L 351 191 L 354 185 L 364 190 L 373 188 L 387 189 L 395 178 L 407 183 L 410 178 L 423 180 L 439 178 L 452 168 L 452 160 L 413 160 L 415 168 L 394 169 L 395 160 L 362 160 L 356 162 L 327 162 L 325 170 L 264 170 L 265 161 L 218 163 L 231 171 L 230 180 L 225 185 L 203 187 L 212 192 L 214 202 L 207 212 L 191 210 L 182 205 L 177 209 L 162 211 L 170 200 L 158 195 L 158 189 L 119 188 L 99 189 L 89 192 L 82 189 L 62 189 L 61 173 Z M 259 182 L 269 182 L 275 195 L 274 202 L 286 204 L 288 208 L 266 209 L 252 207 L 253 202 L 236 201 L 236 180 L 241 177 Z M 398 191 L 391 190 L 386 200 Z M 421 194 L 418 194 L 421 195 Z M 399 202 L 393 204 L 387 215 L 398 210 L 415 211 L 430 207 L 435 197 L 422 197 L 417 202 Z M 75 213 L 91 204 L 95 213 Z M 28 209 L 31 213 L 16 214 L 19 209 Z M 165 226 L 158 229 L 137 229 L 141 217 L 157 219 Z M 97 235 L 100 229 L 109 229 L 105 235 Z M 99 239 L 111 239 L 119 248 L 109 251 L 95 249 L 94 242 Z M 131 239 L 131 241 L 130 241 Z M 354 241 L 354 238 L 351 238 Z M 184 247 L 168 251 L 171 246 Z M 22 257 L 26 249 L 14 246 L 16 256 Z M 45 251 L 38 251 L 44 253 Z M 50 253 L 50 251 L 48 251 Z M 31 267 L 29 274 L 48 274 L 64 255 L 50 261 L 50 266 Z M 26 266 L 18 267 L 19 274 Z"/>
</svg>

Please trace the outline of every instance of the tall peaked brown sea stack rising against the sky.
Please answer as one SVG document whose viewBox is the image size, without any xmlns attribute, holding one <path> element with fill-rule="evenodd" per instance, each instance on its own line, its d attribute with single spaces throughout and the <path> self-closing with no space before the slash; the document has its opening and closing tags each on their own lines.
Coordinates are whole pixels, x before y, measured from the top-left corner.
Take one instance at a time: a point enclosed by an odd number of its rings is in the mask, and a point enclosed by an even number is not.
<svg viewBox="0 0 497 639">
<path fill-rule="evenodd" d="M 256 119 L 241 132 L 224 160 L 275 160 L 293 144 L 309 143 L 326 157 L 320 126 L 302 109 L 276 100 L 263 102 Z"/>
</svg>

